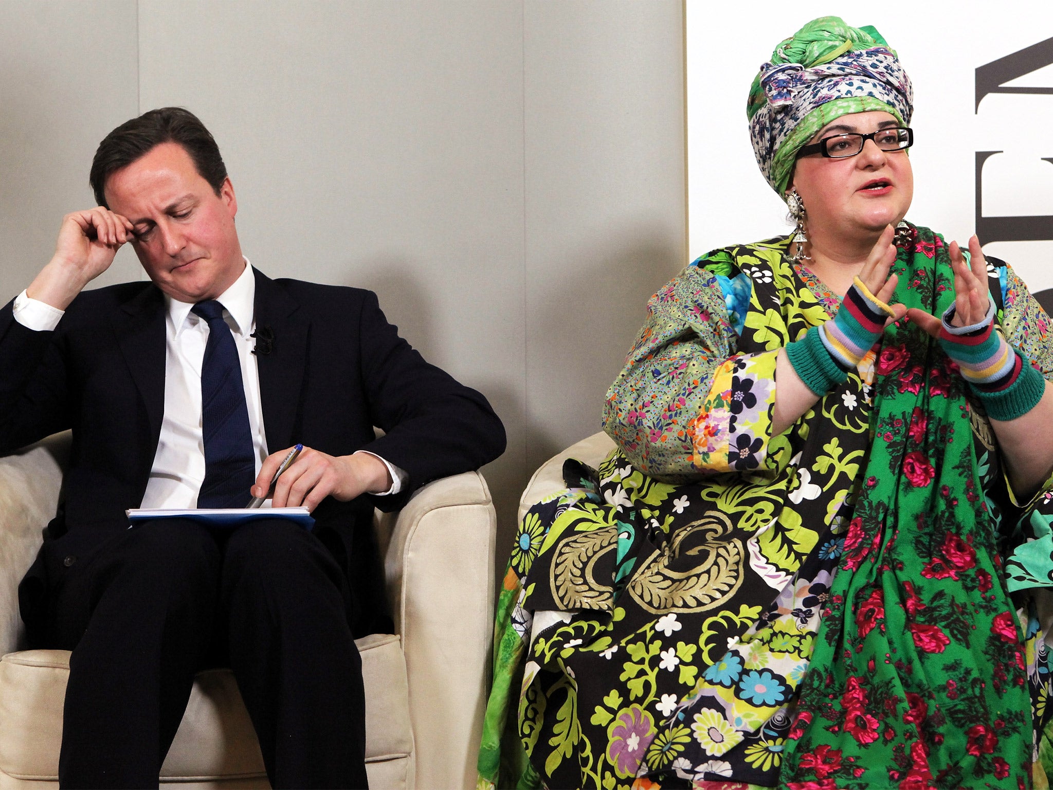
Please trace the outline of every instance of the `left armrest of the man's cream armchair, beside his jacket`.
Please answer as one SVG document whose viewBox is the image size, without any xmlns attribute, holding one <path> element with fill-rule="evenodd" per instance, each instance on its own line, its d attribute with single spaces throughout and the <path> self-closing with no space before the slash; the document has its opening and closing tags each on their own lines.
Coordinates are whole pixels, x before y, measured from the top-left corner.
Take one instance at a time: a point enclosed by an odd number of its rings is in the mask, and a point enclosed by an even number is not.
<svg viewBox="0 0 1053 790">
<path fill-rule="evenodd" d="M 68 447 L 65 432 L 0 458 L 0 655 L 18 649 L 18 582 L 58 508 Z"/>
</svg>

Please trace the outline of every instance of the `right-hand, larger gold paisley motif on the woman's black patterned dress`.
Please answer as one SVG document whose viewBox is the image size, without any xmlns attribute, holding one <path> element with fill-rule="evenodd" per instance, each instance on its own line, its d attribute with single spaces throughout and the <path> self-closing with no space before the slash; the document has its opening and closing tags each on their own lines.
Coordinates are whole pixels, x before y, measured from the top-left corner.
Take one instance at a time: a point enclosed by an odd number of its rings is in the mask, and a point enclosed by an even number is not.
<svg viewBox="0 0 1053 790">
<path fill-rule="evenodd" d="M 744 551 L 720 512 L 676 531 L 629 582 L 629 594 L 653 614 L 704 612 L 722 606 L 742 584 Z M 694 561 L 697 559 L 698 561 Z M 675 570 L 677 567 L 683 570 Z"/>
</svg>

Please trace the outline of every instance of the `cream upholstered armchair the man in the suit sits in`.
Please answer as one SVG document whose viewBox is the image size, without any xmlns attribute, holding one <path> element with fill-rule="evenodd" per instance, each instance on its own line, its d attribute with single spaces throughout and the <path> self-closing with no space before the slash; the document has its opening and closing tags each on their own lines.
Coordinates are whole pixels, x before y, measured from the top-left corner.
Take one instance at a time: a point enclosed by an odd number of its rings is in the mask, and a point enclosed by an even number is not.
<svg viewBox="0 0 1053 790">
<path fill-rule="evenodd" d="M 55 787 L 69 654 L 16 651 L 17 587 L 54 515 L 68 434 L 0 458 L 0 790 Z M 396 634 L 358 640 L 371 787 L 471 788 L 488 691 L 494 506 L 478 473 L 436 480 L 377 513 Z M 267 787 L 229 670 L 201 672 L 162 786 Z"/>
</svg>

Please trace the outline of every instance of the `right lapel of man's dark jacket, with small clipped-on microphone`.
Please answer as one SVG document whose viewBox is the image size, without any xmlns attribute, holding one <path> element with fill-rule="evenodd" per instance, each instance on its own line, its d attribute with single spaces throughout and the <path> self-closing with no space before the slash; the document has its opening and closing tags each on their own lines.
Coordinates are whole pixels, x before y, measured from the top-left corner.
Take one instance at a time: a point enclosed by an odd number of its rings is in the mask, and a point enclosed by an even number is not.
<svg viewBox="0 0 1053 790">
<path fill-rule="evenodd" d="M 256 368 L 267 451 L 276 453 L 300 437 L 303 372 L 307 360 L 311 321 L 300 305 L 274 280 L 256 275 Z M 267 336 L 272 339 L 267 341 Z M 267 345 L 270 344 L 270 348 Z"/>
</svg>

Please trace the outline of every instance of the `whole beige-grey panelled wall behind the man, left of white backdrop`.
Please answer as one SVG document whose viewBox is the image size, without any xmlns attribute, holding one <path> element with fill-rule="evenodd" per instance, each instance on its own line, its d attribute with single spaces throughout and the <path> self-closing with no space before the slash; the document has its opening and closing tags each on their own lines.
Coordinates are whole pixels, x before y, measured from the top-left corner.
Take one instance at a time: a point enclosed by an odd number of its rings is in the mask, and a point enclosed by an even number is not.
<svg viewBox="0 0 1053 790">
<path fill-rule="evenodd" d="M 679 0 L 4 0 L 0 299 L 99 140 L 179 104 L 213 131 L 272 277 L 370 288 L 509 432 L 498 573 L 544 459 L 599 430 L 686 250 Z M 99 284 L 137 279 L 122 250 Z"/>
</svg>

